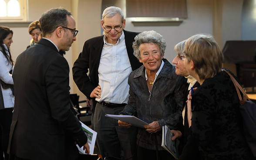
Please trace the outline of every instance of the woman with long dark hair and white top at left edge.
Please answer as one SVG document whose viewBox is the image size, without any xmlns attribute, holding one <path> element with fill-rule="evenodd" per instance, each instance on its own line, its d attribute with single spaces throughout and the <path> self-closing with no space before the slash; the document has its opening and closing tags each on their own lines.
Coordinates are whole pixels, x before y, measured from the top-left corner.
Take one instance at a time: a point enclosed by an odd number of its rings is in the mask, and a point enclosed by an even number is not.
<svg viewBox="0 0 256 160">
<path fill-rule="evenodd" d="M 2 128 L 2 146 L 4 157 L 9 160 L 7 147 L 9 142 L 10 125 L 12 122 L 12 111 L 14 107 L 13 98 L 13 60 L 10 54 L 10 45 L 13 31 L 8 27 L 0 26 L 0 82 L 2 94 L 0 94 L 0 126 Z"/>
</svg>

